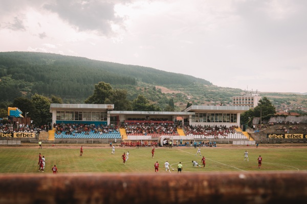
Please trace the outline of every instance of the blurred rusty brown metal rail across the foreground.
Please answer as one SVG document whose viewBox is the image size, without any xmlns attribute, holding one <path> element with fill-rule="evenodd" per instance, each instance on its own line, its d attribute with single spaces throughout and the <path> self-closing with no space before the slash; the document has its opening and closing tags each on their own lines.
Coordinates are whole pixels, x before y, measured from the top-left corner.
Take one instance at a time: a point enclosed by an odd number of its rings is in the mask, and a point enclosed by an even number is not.
<svg viewBox="0 0 307 204">
<path fill-rule="evenodd" d="M 299 204 L 306 203 L 306 184 L 301 171 L 185 173 L 184 167 L 182 174 L 0 174 L 0 198 L 8 204 Z"/>
</svg>

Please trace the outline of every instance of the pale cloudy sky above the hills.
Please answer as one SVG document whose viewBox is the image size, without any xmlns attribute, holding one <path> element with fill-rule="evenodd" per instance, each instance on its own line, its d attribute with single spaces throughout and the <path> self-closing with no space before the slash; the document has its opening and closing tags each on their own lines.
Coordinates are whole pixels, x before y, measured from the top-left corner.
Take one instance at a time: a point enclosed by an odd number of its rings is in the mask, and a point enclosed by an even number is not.
<svg viewBox="0 0 307 204">
<path fill-rule="evenodd" d="M 305 0 L 0 0 L 0 52 L 152 67 L 259 92 L 307 92 Z"/>
</svg>

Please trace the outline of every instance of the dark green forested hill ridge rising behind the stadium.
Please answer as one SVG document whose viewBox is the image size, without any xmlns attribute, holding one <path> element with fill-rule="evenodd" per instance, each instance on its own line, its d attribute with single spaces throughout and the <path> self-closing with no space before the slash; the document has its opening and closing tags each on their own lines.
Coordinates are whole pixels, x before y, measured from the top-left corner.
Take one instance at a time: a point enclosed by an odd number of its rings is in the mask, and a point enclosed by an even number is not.
<svg viewBox="0 0 307 204">
<path fill-rule="evenodd" d="M 21 91 L 84 98 L 92 94 L 98 82 L 133 86 L 138 82 L 212 85 L 190 75 L 149 67 L 32 52 L 0 53 L 0 80 L 0 101 L 11 101 L 20 96 Z"/>
</svg>

